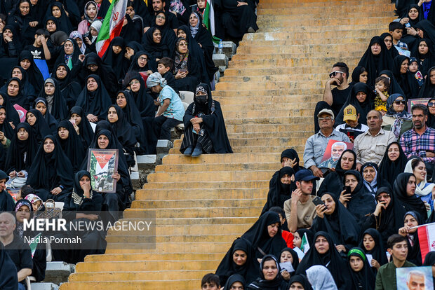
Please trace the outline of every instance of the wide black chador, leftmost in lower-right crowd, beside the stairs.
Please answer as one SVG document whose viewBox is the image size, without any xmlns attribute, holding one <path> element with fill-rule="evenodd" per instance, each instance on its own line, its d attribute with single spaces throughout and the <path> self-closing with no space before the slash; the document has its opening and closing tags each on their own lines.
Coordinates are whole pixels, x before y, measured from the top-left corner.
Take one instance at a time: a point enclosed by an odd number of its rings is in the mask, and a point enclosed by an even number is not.
<svg viewBox="0 0 435 290">
<path fill-rule="evenodd" d="M 246 253 L 246 263 L 239 266 L 233 261 L 234 251 L 241 250 Z M 222 261 L 217 266 L 216 275 L 219 276 L 220 284 L 224 285 L 230 276 L 239 274 L 241 275 L 246 283 L 255 281 L 255 279 L 260 275 L 258 272 L 259 263 L 257 258 L 255 258 L 255 251 L 248 240 L 238 237 L 234 240 L 232 246 L 225 254 Z M 234 282 L 233 282 L 234 283 Z"/>
</svg>

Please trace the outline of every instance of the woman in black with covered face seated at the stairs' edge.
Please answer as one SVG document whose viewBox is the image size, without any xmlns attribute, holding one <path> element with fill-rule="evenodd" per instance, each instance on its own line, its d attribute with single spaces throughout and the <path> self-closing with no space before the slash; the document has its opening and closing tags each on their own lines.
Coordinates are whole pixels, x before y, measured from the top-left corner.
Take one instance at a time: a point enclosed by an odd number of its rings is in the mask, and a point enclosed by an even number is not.
<svg viewBox="0 0 435 290">
<path fill-rule="evenodd" d="M 194 102 L 183 118 L 185 137 L 180 151 L 185 156 L 198 157 L 202 153 L 233 153 L 225 130 L 220 103 L 211 97 L 210 86 L 196 86 Z"/>
</svg>

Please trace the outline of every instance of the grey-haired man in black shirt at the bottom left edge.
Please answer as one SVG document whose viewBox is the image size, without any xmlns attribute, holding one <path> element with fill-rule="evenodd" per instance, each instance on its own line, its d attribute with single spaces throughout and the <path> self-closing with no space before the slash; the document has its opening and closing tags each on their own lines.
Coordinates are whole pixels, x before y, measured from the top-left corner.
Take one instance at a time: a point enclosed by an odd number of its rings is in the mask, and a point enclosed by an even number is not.
<svg viewBox="0 0 435 290">
<path fill-rule="evenodd" d="M 0 242 L 4 244 L 6 253 L 17 268 L 18 282 L 21 282 L 18 283 L 18 290 L 25 290 L 22 282 L 32 274 L 32 251 L 24 240 L 13 234 L 15 227 L 15 216 L 10 212 L 2 212 L 0 214 Z"/>
</svg>

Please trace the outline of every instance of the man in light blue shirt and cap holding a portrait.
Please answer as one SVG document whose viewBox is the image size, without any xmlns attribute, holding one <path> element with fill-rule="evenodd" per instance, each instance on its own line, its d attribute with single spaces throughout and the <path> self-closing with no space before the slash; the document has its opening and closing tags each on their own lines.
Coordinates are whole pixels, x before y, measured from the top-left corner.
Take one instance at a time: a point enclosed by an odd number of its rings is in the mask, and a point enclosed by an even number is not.
<svg viewBox="0 0 435 290">
<path fill-rule="evenodd" d="M 323 109 L 318 114 L 320 130 L 307 139 L 304 149 L 304 167 L 309 168 L 316 177 L 323 177 L 317 167 L 325 154 L 329 140 L 350 142 L 349 137 L 343 132 L 334 130 L 334 113 L 330 109 Z"/>
</svg>

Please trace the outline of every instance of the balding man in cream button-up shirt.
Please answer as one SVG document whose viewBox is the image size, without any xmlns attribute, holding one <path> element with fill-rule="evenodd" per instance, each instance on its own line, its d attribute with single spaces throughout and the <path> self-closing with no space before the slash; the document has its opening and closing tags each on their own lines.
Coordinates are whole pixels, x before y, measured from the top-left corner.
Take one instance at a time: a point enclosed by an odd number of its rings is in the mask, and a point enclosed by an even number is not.
<svg viewBox="0 0 435 290">
<path fill-rule="evenodd" d="M 367 132 L 359 134 L 354 141 L 356 170 L 361 170 L 361 166 L 368 162 L 379 164 L 387 146 L 396 141 L 393 132 L 381 128 L 382 114 L 380 111 L 371 110 L 367 113 L 367 125 Z"/>
</svg>

